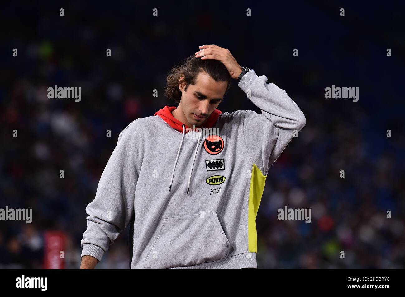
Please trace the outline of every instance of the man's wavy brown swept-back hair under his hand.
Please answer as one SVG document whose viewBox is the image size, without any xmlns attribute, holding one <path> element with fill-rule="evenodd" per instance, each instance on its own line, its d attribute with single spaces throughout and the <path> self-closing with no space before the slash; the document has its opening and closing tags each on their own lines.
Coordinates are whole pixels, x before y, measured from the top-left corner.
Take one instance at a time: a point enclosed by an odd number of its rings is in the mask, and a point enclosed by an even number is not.
<svg viewBox="0 0 405 297">
<path fill-rule="evenodd" d="M 169 99 L 173 99 L 176 103 L 180 103 L 181 91 L 179 83 L 185 82 L 185 91 L 190 84 L 195 84 L 197 75 L 200 72 L 205 72 L 216 82 L 228 82 L 225 94 L 228 92 L 231 85 L 231 77 L 225 65 L 218 60 L 201 60 L 191 55 L 183 59 L 180 64 L 175 65 L 166 78 L 165 95 Z M 179 81 L 181 76 L 184 78 Z M 224 94 L 224 96 L 225 96 Z"/>
</svg>

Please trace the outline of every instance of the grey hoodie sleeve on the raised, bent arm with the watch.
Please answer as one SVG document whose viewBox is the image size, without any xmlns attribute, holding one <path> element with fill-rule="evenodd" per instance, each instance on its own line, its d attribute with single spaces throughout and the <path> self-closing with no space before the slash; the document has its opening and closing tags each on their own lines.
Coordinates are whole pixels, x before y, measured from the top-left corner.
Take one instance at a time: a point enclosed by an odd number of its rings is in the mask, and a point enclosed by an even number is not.
<svg viewBox="0 0 405 297">
<path fill-rule="evenodd" d="M 294 132 L 300 131 L 306 122 L 303 112 L 286 91 L 266 82 L 266 76 L 257 76 L 254 70 L 250 70 L 238 84 L 262 110 L 261 114 L 247 110 L 242 121 L 247 152 L 263 175 L 267 175 L 270 166 L 294 137 Z"/>
</svg>

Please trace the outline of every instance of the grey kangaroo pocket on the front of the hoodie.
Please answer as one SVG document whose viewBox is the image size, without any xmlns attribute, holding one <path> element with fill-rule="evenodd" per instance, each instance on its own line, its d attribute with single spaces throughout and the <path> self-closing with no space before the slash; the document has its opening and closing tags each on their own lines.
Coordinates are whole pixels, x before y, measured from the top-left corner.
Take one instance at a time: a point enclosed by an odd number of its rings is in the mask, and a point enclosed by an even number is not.
<svg viewBox="0 0 405 297">
<path fill-rule="evenodd" d="M 215 211 L 164 218 L 144 268 L 165 269 L 228 256 L 230 243 Z"/>
</svg>

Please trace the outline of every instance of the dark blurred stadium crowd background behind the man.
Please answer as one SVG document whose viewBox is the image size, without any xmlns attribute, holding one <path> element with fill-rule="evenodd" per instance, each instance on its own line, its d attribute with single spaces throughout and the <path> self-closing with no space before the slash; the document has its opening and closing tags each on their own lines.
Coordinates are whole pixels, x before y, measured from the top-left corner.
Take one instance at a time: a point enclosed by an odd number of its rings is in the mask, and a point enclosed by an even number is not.
<svg viewBox="0 0 405 297">
<path fill-rule="evenodd" d="M 66 267 L 79 267 L 85 206 L 119 132 L 176 106 L 166 75 L 203 44 L 286 90 L 307 120 L 266 179 L 258 268 L 404 268 L 404 6 L 371 3 L 2 4 L 0 208 L 32 208 L 33 221 L 0 221 L 0 268 L 42 268 L 48 230 L 66 232 Z M 48 99 L 54 84 L 81 87 L 81 101 Z M 325 99 L 332 84 L 359 101 Z M 234 80 L 218 109 L 260 112 Z M 278 220 L 284 205 L 311 208 L 312 222 Z M 128 259 L 127 229 L 97 268 Z"/>
</svg>

